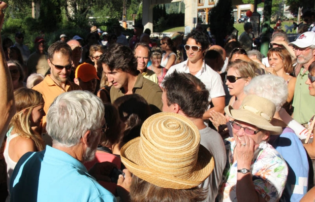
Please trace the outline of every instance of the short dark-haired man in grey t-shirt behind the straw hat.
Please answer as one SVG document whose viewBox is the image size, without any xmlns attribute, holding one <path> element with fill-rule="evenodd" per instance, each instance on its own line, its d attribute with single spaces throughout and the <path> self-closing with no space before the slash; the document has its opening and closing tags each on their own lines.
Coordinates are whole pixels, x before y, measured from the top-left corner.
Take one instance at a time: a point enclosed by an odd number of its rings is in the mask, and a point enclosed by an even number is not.
<svg viewBox="0 0 315 202">
<path fill-rule="evenodd" d="M 215 158 L 215 168 L 210 176 L 199 185 L 208 191 L 204 202 L 214 202 L 221 184 L 226 154 L 221 135 L 207 127 L 202 120 L 209 105 L 209 91 L 197 77 L 177 71 L 164 78 L 162 87 L 163 112 L 178 113 L 191 120 L 199 130 L 200 144 L 206 147 Z"/>
</svg>

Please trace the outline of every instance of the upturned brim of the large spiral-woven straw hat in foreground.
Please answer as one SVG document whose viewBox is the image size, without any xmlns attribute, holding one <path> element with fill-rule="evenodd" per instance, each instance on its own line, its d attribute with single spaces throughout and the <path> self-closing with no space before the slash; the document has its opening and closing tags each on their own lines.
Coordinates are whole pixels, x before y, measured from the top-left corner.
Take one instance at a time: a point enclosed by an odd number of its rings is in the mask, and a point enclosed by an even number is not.
<svg viewBox="0 0 315 202">
<path fill-rule="evenodd" d="M 168 173 L 141 165 L 139 154 L 140 137 L 130 140 L 121 149 L 122 163 L 137 177 L 158 187 L 170 189 L 190 189 L 201 184 L 212 172 L 215 161 L 202 145 L 199 147 L 197 164 L 189 176 L 179 178 Z"/>
</svg>

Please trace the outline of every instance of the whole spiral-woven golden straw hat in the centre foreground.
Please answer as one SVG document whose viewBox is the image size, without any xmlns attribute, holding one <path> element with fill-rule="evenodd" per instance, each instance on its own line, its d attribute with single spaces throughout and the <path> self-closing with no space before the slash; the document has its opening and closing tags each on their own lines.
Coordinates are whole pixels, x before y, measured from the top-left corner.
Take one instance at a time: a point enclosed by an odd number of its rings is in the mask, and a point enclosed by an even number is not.
<svg viewBox="0 0 315 202">
<path fill-rule="evenodd" d="M 200 145 L 197 127 L 186 117 L 169 112 L 149 117 L 140 137 L 123 146 L 121 158 L 137 177 L 171 189 L 196 187 L 214 168 L 212 155 Z"/>
</svg>

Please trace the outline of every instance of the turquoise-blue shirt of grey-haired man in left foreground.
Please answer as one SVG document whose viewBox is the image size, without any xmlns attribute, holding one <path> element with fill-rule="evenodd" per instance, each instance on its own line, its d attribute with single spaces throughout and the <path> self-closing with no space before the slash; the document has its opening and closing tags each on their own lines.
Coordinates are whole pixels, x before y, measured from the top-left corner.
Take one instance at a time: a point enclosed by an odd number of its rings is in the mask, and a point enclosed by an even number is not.
<svg viewBox="0 0 315 202">
<path fill-rule="evenodd" d="M 81 162 L 48 145 L 22 156 L 10 191 L 11 202 L 116 202 Z"/>
</svg>

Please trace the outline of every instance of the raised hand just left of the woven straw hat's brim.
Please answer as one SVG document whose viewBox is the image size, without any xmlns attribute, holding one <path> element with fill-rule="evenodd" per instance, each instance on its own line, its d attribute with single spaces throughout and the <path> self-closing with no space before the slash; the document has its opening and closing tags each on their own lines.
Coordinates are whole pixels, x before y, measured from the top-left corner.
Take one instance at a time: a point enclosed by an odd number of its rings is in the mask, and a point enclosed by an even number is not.
<svg viewBox="0 0 315 202">
<path fill-rule="evenodd" d="M 117 181 L 117 194 L 122 199 L 123 202 L 129 202 L 129 192 L 130 192 L 130 185 L 132 180 L 132 174 L 128 169 L 124 169 L 123 172 L 125 173 L 125 177 L 123 175 L 119 175 Z"/>
</svg>

